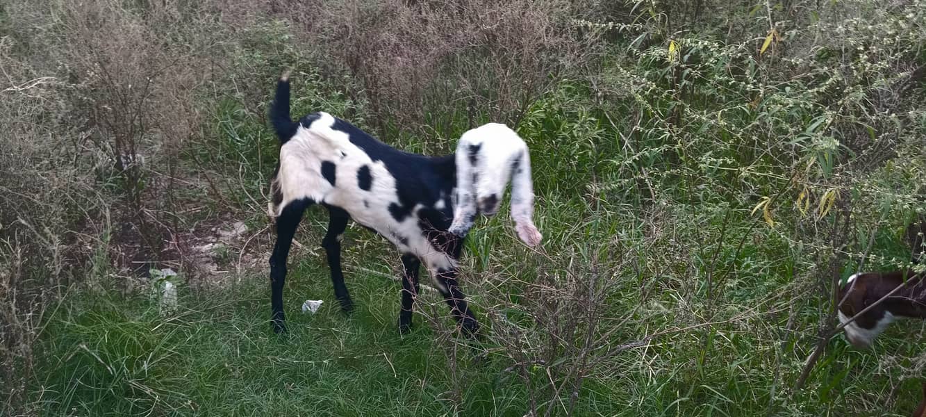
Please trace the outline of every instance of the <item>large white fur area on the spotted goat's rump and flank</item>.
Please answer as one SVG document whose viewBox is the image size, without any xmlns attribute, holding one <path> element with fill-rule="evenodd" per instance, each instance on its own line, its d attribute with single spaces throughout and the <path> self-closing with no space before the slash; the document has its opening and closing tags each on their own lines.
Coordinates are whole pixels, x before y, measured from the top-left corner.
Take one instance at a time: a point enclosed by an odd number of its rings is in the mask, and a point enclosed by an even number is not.
<svg viewBox="0 0 926 417">
<path fill-rule="evenodd" d="M 280 149 L 280 172 L 277 183 L 282 203 L 274 213 L 279 216 L 288 204 L 301 198 L 343 208 L 357 221 L 389 239 L 403 253 L 412 253 L 425 265 L 432 277 L 439 269 L 451 269 L 456 261 L 433 248 L 421 234 L 414 208 L 403 221 L 390 214 L 391 204 L 400 204 L 395 178 L 382 161 L 373 161 L 366 152 L 350 142 L 348 134 L 332 129 L 332 115 L 319 112 L 319 119 L 306 128 L 299 126 L 293 138 Z M 334 185 L 321 175 L 321 163 L 334 164 Z M 357 171 L 369 167 L 372 182 L 369 191 L 357 184 Z M 339 236 L 340 237 L 340 236 Z"/>
</svg>

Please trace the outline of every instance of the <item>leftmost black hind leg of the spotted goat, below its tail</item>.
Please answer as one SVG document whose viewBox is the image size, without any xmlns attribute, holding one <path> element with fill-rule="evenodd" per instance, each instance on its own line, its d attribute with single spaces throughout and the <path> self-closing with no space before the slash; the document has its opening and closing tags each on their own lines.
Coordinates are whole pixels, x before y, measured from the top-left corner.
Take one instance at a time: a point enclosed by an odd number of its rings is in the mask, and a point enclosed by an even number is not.
<svg viewBox="0 0 926 417">
<path fill-rule="evenodd" d="M 286 332 L 286 316 L 283 314 L 283 284 L 286 283 L 286 259 L 293 244 L 295 229 L 302 220 L 302 213 L 311 204 L 298 200 L 283 208 L 277 218 L 277 242 L 270 256 L 270 310 L 274 333 Z"/>
</svg>

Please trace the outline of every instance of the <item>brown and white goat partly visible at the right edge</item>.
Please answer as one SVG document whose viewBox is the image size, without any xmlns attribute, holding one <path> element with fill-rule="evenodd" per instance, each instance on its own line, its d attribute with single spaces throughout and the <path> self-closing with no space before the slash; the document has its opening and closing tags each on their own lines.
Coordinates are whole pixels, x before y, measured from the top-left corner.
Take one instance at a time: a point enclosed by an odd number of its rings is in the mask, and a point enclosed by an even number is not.
<svg viewBox="0 0 926 417">
<path fill-rule="evenodd" d="M 849 322 L 888 294 L 891 296 Z M 856 273 L 840 288 L 837 297 L 842 301 L 838 306 L 839 321 L 849 322 L 844 327 L 845 336 L 858 348 L 870 347 L 874 338 L 898 317 L 926 319 L 926 280 L 922 273 Z"/>
</svg>

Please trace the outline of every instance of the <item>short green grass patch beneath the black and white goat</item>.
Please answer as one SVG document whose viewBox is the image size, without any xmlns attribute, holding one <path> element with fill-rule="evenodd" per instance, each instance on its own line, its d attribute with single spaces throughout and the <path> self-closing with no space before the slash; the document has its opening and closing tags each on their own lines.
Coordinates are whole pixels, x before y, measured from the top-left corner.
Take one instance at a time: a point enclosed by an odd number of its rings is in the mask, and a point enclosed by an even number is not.
<svg viewBox="0 0 926 417">
<path fill-rule="evenodd" d="M 317 261 L 290 274 L 284 337 L 269 330 L 260 279 L 186 294 L 169 318 L 144 297 L 82 294 L 46 331 L 40 403 L 49 415 L 521 415 L 507 363 L 464 348 L 453 380 L 421 317 L 396 332 L 398 284 L 352 276 L 357 311 L 345 317 Z M 326 303 L 303 315 L 307 297 Z"/>
</svg>

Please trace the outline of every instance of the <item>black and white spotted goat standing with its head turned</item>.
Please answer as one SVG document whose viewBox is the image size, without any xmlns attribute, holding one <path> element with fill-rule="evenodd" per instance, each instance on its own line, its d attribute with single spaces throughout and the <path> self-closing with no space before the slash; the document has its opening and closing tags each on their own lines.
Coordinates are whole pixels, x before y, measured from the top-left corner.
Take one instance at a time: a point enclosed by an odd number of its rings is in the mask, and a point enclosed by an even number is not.
<svg viewBox="0 0 926 417">
<path fill-rule="evenodd" d="M 344 311 L 353 310 L 341 271 L 340 241 L 347 221 L 357 221 L 399 249 L 404 269 L 398 320 L 402 332 L 411 326 L 421 263 L 462 329 L 470 335 L 478 331 L 479 323 L 457 283 L 457 259 L 476 215 L 497 211 L 509 179 L 512 218 L 520 238 L 531 246 L 541 240 L 532 222 L 527 145 L 504 125 L 487 124 L 465 133 L 456 155 L 410 154 L 328 113 L 293 121 L 286 74 L 277 83 L 270 120 L 281 142 L 269 203 L 277 229 L 269 260 L 272 324 L 277 333 L 286 330 L 282 301 L 286 259 L 296 226 L 312 204 L 324 206 L 330 215 L 321 246 L 327 253 L 334 295 Z M 453 233 L 448 232 L 452 225 Z"/>
</svg>

